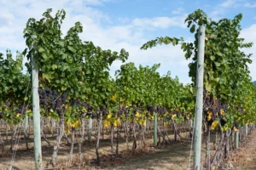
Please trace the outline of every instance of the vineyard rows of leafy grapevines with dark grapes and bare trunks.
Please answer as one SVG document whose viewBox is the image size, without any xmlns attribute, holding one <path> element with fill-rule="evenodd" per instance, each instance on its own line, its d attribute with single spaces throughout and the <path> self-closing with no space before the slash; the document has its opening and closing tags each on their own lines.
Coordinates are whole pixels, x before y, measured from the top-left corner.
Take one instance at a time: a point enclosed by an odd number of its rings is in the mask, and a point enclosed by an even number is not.
<svg viewBox="0 0 256 170">
<path fill-rule="evenodd" d="M 14 56 L 7 50 L 0 54 L 0 156 L 8 162 L 0 161 L 0 165 L 5 168 L 19 169 L 15 160 L 22 160 L 21 153 L 27 150 L 38 153 L 33 162 L 36 169 L 100 168 L 107 161 L 117 164 L 124 157 L 173 144 L 181 150 L 179 144 L 188 144 L 190 150 L 201 26 L 205 26 L 201 166 L 207 170 L 220 167 L 253 132 L 256 86 L 247 66 L 252 54 L 242 51 L 253 43 L 240 37 L 241 14 L 233 20 L 214 21 L 198 9 L 185 20 L 194 42 L 157 37 L 142 45 L 142 50 L 154 50 L 157 45 L 181 47 L 191 61 L 192 83 L 184 85 L 170 71 L 160 75 L 160 64 L 137 67 L 127 63 L 125 49 L 118 53 L 83 42 L 79 22 L 63 35 L 66 12 L 51 13 L 47 9 L 41 20 L 27 21 L 27 48 L 22 53 Z M 117 60 L 124 64 L 110 77 L 110 66 Z M 38 98 L 38 107 L 33 98 Z M 32 123 L 37 110 L 39 121 Z M 40 145 L 36 145 L 37 138 Z M 193 166 L 192 157 L 190 151 L 182 169 Z"/>
</svg>

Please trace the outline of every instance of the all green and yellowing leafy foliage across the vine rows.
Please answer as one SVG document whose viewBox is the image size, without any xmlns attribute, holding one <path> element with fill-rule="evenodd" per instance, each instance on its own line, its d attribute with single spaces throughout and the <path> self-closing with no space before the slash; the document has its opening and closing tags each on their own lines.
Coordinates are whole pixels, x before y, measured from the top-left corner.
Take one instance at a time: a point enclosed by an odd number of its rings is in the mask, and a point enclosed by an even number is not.
<svg viewBox="0 0 256 170">
<path fill-rule="evenodd" d="M 241 48 L 250 48 L 253 44 L 244 43 L 244 39 L 239 37 L 241 14 L 233 20 L 216 22 L 199 9 L 185 20 L 189 31 L 195 34 L 195 42 L 184 42 L 183 37 L 157 37 L 143 44 L 142 49 L 158 44 L 181 46 L 185 58 L 192 58 L 189 77 L 194 82 L 183 86 L 177 77 L 171 77 L 170 72 L 160 77 L 157 72 L 159 64 L 152 67 L 140 65 L 138 68 L 134 63 L 121 65 L 113 80 L 109 77 L 109 66 L 115 60 L 125 62 L 128 59 L 125 49 L 117 53 L 96 47 L 93 42 L 83 42 L 79 38 L 83 31 L 79 22 L 63 36 L 61 24 L 66 12 L 60 10 L 52 16 L 51 11 L 47 9 L 41 20 L 28 20 L 24 30 L 28 48 L 23 54 L 17 54 L 16 61 L 9 51 L 7 59 L 3 59 L 1 54 L 1 75 L 6 75 L 0 76 L 1 101 L 11 101 L 7 107 L 2 102 L 2 111 L 12 108 L 12 105 L 19 108 L 17 105 L 24 99 L 29 76 L 22 74 L 21 70 L 22 58 L 26 55 L 28 71 L 31 71 L 32 59 L 39 71 L 44 116 L 56 118 L 63 112 L 67 124 L 72 126 L 78 125 L 78 119 L 86 114 L 93 117 L 102 115 L 108 120 L 106 124 L 114 126 L 119 125 L 119 119 L 128 117 L 143 125 L 156 112 L 162 117 L 169 117 L 169 120 L 177 121 L 178 117 L 189 119 L 195 109 L 197 27 L 204 25 L 207 32 L 204 66 L 205 101 L 208 101 L 205 103 L 206 120 L 221 122 L 225 119 L 225 125 L 229 127 L 233 122 L 253 122 L 255 101 L 249 96 L 255 96 L 255 87 L 247 67 L 252 62 L 249 59 L 251 54 L 241 52 Z"/>
</svg>

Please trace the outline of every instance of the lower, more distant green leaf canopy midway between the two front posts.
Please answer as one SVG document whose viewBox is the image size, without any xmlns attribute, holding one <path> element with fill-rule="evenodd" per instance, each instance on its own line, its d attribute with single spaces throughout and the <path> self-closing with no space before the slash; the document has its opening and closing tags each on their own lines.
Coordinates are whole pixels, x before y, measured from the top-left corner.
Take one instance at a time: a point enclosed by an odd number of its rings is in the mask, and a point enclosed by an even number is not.
<svg viewBox="0 0 256 170">
<path fill-rule="evenodd" d="M 147 108 L 160 106 L 169 110 L 182 109 L 191 111 L 189 104 L 193 104 L 194 93 L 191 87 L 183 86 L 168 72 L 160 77 L 156 70 L 160 64 L 137 68 L 134 63 L 121 65 L 116 71 L 117 99 L 122 105 L 135 105 Z M 193 110 L 193 109 L 192 109 Z"/>
</svg>

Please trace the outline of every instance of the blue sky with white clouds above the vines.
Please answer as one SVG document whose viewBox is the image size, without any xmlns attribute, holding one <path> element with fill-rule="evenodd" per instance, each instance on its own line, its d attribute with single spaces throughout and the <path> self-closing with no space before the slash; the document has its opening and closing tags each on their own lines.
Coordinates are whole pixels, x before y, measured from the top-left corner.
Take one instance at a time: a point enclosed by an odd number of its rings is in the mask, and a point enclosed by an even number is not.
<svg viewBox="0 0 256 170">
<path fill-rule="evenodd" d="M 136 65 L 160 63 L 161 75 L 171 71 L 172 77 L 189 83 L 189 60 L 184 58 L 179 46 L 162 45 L 141 50 L 143 43 L 155 37 L 183 37 L 193 42 L 194 35 L 184 24 L 188 14 L 201 8 L 213 20 L 233 19 L 241 13 L 241 37 L 253 42 L 253 48 L 244 49 L 254 53 L 249 65 L 250 75 L 256 80 L 256 1 L 255 0 L 0 0 L 0 52 L 6 49 L 22 52 L 26 48 L 23 30 L 29 18 L 39 20 L 47 8 L 52 14 L 64 9 L 66 19 L 61 27 L 65 35 L 79 21 L 84 27 L 80 38 L 92 41 L 103 49 L 120 51 L 125 48 L 130 56 L 127 62 Z M 121 63 L 114 62 L 111 75 Z"/>
</svg>

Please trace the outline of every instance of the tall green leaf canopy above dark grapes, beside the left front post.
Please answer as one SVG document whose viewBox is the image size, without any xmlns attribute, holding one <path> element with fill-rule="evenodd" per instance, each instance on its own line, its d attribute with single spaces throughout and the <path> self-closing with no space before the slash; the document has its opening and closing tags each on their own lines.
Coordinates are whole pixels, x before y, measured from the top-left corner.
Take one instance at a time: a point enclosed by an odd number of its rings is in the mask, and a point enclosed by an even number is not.
<svg viewBox="0 0 256 170">
<path fill-rule="evenodd" d="M 41 20 L 29 19 L 24 30 L 27 58 L 33 59 L 39 70 L 40 87 L 55 89 L 59 94 L 67 92 L 69 99 L 79 99 L 102 106 L 108 99 L 109 66 L 114 60 L 123 62 L 128 57 L 124 49 L 120 54 L 102 50 L 92 42 L 82 42 L 79 22 L 62 37 L 61 24 L 66 12 L 60 10 L 53 17 L 47 9 Z M 25 50 L 26 53 L 27 49 Z M 27 64 L 28 68 L 31 65 Z"/>
</svg>

